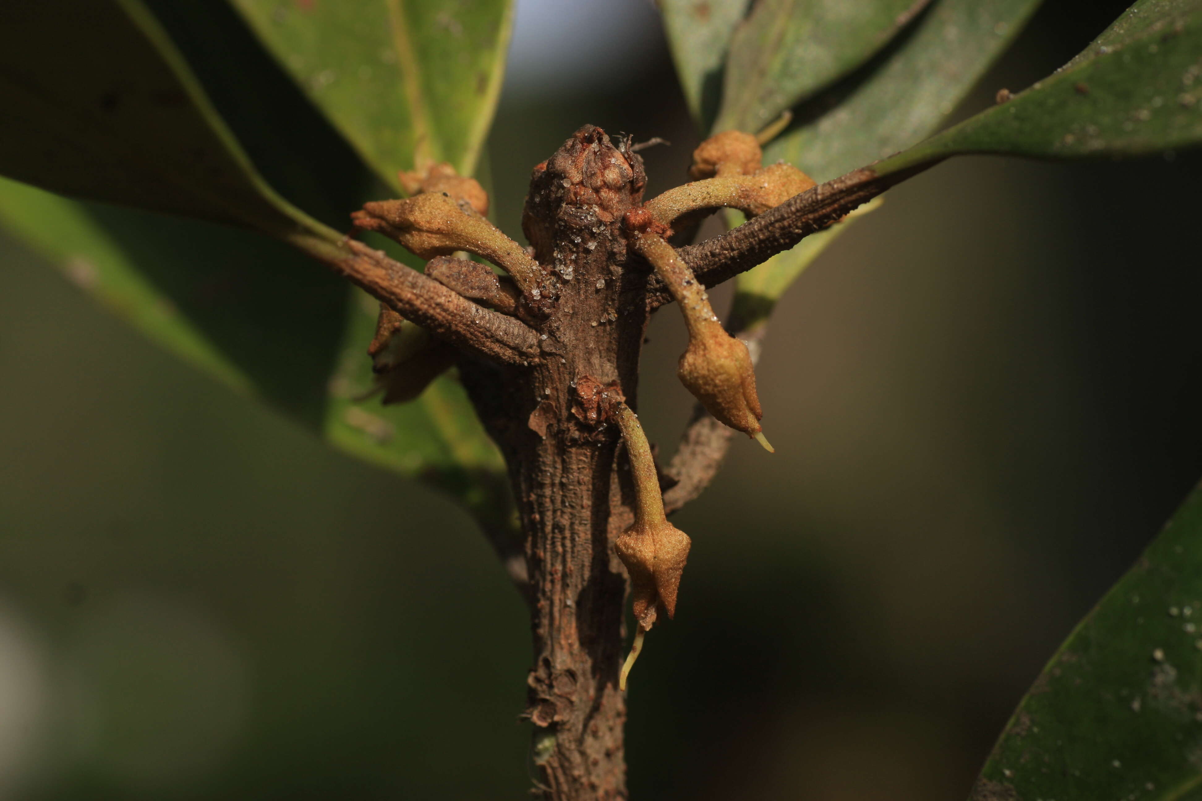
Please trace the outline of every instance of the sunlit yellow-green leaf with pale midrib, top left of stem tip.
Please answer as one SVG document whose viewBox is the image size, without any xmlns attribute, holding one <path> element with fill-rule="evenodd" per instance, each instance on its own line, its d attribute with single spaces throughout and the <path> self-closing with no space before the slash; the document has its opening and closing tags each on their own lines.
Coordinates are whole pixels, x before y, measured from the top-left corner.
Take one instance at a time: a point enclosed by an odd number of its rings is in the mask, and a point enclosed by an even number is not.
<svg viewBox="0 0 1202 801">
<path fill-rule="evenodd" d="M 512 0 L 232 0 L 313 102 L 393 187 L 476 166 L 500 92 Z"/>
</svg>

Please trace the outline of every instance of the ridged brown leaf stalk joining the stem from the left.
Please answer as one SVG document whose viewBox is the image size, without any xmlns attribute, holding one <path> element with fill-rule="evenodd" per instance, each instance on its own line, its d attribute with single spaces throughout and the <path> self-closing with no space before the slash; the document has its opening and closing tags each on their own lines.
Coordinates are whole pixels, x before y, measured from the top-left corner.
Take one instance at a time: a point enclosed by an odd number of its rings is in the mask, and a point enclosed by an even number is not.
<svg viewBox="0 0 1202 801">
<path fill-rule="evenodd" d="M 383 251 L 347 239 L 331 267 L 406 319 L 460 349 L 492 361 L 528 365 L 538 354 L 538 334 L 513 317 L 482 306 Z"/>
</svg>

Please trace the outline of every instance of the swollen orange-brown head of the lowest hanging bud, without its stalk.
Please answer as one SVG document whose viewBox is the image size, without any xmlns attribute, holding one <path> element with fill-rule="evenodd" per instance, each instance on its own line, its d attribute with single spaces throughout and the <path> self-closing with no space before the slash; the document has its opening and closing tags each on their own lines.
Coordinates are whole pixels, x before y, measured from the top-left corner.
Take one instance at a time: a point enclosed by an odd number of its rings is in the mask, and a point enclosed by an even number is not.
<svg viewBox="0 0 1202 801">
<path fill-rule="evenodd" d="M 659 492 L 659 488 L 655 489 Z M 627 528 L 614 543 L 618 558 L 630 573 L 635 617 L 651 628 L 656 606 L 664 604 L 668 617 L 676 616 L 677 592 L 692 540 L 667 519 Z"/>
</svg>

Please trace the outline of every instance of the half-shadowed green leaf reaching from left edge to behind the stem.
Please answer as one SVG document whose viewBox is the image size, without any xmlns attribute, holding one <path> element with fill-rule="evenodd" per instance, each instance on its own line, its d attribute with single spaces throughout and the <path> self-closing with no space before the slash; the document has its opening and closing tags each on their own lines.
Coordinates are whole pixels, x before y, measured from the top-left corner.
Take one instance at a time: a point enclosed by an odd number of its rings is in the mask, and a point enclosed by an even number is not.
<svg viewBox="0 0 1202 801">
<path fill-rule="evenodd" d="M 507 524 L 504 465 L 459 384 L 417 401 L 371 387 L 377 304 L 282 243 L 196 220 L 71 201 L 0 179 L 0 221 L 156 343 L 339 448 L 422 478 Z"/>
</svg>

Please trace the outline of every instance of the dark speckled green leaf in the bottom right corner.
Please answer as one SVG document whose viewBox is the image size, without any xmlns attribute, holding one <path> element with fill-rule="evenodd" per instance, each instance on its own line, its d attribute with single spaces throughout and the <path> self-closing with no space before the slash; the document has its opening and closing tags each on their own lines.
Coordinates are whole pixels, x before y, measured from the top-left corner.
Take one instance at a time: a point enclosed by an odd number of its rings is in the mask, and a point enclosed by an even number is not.
<svg viewBox="0 0 1202 801">
<path fill-rule="evenodd" d="M 974 801 L 1202 797 L 1202 489 L 1069 635 Z"/>
</svg>

